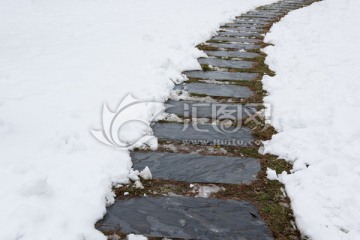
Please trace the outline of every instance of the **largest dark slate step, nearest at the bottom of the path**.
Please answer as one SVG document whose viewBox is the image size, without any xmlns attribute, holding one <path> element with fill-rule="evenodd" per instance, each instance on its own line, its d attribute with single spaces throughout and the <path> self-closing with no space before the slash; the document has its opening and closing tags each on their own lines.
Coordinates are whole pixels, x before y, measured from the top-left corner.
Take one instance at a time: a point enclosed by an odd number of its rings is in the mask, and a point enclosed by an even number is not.
<svg viewBox="0 0 360 240">
<path fill-rule="evenodd" d="M 116 201 L 97 228 L 180 239 L 272 240 L 256 208 L 245 201 L 139 197 Z"/>
</svg>

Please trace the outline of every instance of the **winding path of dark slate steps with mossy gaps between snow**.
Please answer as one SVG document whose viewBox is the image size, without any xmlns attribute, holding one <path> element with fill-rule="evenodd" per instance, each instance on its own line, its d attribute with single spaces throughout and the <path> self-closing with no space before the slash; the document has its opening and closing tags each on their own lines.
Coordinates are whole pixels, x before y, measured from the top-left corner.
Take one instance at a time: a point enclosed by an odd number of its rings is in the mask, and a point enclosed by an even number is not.
<svg viewBox="0 0 360 240">
<path fill-rule="evenodd" d="M 154 180 L 143 180 L 144 189 L 115 189 L 117 201 L 98 229 L 109 236 L 135 233 L 155 239 L 299 238 L 281 184 L 265 174 L 267 167 L 289 166 L 258 154 L 260 140 L 274 133 L 261 111 L 261 78 L 273 73 L 260 49 L 274 22 L 313 2 L 284 0 L 259 7 L 198 46 L 209 56 L 198 59 L 203 70 L 184 72 L 189 80 L 177 85 L 178 97 L 167 102 L 167 113 L 177 121 L 155 123 L 156 152 L 131 154 L 134 169 L 148 166 Z"/>
</svg>

